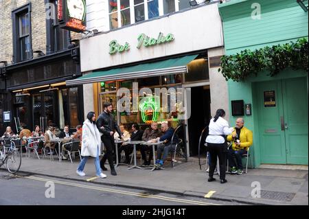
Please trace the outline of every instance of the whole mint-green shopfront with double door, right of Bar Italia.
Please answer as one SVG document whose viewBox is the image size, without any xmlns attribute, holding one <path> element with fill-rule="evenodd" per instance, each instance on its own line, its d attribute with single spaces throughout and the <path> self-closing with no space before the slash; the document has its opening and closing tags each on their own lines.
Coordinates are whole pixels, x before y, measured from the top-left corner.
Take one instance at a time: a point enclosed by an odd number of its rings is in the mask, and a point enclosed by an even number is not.
<svg viewBox="0 0 309 219">
<path fill-rule="evenodd" d="M 308 12 L 296 0 L 235 0 L 220 4 L 219 11 L 229 57 L 249 54 L 246 49 L 266 51 L 273 45 L 295 45 L 299 38 L 308 39 Z M 308 59 L 304 62 L 308 68 Z M 228 81 L 230 123 L 244 117 L 245 126 L 253 130 L 255 167 L 308 165 L 308 72 L 287 67 L 274 76 L 269 73 L 264 69 L 256 76 Z M 240 108 L 232 104 L 234 100 L 239 100 Z"/>
</svg>

